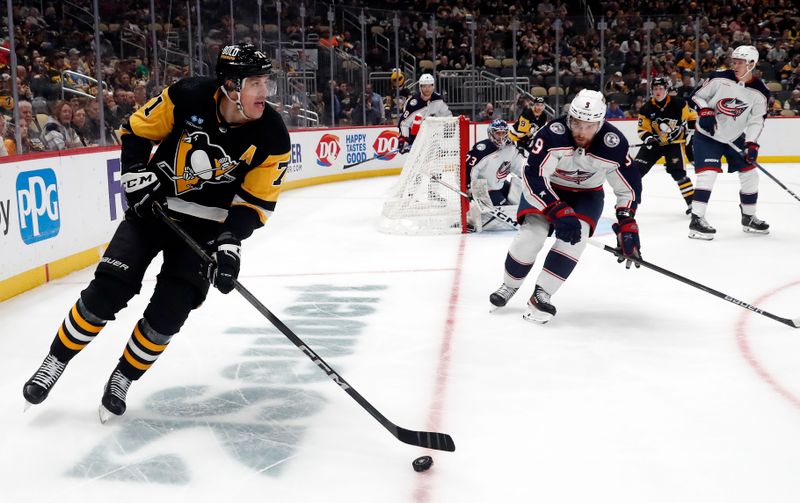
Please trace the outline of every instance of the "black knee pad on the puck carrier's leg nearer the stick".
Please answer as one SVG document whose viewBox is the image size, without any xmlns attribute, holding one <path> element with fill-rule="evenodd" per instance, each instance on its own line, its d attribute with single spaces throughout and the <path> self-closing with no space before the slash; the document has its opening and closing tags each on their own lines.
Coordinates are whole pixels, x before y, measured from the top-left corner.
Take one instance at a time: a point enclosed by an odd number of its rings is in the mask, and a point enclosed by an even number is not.
<svg viewBox="0 0 800 503">
<path fill-rule="evenodd" d="M 205 288 L 172 276 L 159 276 L 144 319 L 158 333 L 173 335 L 183 326 L 189 313 L 203 303 L 208 293 Z"/>
</svg>

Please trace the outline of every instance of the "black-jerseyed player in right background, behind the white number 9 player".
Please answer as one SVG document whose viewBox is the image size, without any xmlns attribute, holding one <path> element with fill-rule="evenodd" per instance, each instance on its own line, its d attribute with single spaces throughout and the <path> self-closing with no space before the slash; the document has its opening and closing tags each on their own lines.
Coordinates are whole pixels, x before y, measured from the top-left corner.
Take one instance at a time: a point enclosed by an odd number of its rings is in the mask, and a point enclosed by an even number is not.
<svg viewBox="0 0 800 503">
<path fill-rule="evenodd" d="M 686 175 L 682 143 L 686 141 L 688 131 L 694 129 L 697 113 L 683 98 L 669 96 L 667 87 L 667 80 L 663 77 L 653 79 L 653 97 L 639 112 L 638 133 L 645 145 L 639 149 L 633 163 L 644 178 L 653 164 L 663 157 L 667 173 L 678 184 L 686 201 L 688 215 L 692 212 L 694 186 Z"/>
</svg>

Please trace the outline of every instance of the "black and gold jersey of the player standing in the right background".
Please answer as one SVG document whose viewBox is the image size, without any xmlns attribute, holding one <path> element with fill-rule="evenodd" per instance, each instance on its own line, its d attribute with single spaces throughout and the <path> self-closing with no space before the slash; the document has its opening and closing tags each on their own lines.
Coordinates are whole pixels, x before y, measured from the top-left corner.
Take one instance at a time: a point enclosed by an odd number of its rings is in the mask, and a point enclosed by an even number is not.
<svg viewBox="0 0 800 503">
<path fill-rule="evenodd" d="M 662 144 L 674 143 L 685 140 L 696 121 L 697 112 L 683 98 L 668 95 L 661 102 L 650 98 L 639 111 L 637 133 L 642 140 L 656 136 Z"/>
</svg>

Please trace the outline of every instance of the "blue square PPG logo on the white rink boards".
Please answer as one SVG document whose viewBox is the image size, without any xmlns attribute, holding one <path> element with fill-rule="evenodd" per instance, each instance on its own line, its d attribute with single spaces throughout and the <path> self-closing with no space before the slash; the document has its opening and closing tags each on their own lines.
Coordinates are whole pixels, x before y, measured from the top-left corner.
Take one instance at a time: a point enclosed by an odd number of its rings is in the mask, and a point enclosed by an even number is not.
<svg viewBox="0 0 800 503">
<path fill-rule="evenodd" d="M 19 232 L 25 244 L 49 239 L 61 229 L 58 186 L 52 169 L 37 169 L 17 175 Z"/>
</svg>

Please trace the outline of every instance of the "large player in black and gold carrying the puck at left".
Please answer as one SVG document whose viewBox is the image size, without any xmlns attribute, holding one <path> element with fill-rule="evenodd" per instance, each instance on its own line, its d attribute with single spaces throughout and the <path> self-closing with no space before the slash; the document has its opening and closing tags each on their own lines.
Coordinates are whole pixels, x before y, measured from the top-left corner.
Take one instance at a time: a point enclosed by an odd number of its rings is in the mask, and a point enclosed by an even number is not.
<svg viewBox="0 0 800 503">
<path fill-rule="evenodd" d="M 121 415 L 132 381 L 155 363 L 210 284 L 230 292 L 241 242 L 275 210 L 291 148 L 280 115 L 267 103 L 271 61 L 252 45 L 230 45 L 217 79 L 181 80 L 136 111 L 121 128 L 122 177 L 128 209 L 94 279 L 70 309 L 41 367 L 23 386 L 38 404 L 67 363 L 100 333 L 142 286 L 163 253 L 155 291 L 111 373 L 100 419 Z M 160 142 L 150 158 L 153 142 Z M 180 220 L 215 263 L 203 262 L 155 216 Z"/>
</svg>

